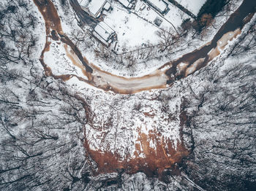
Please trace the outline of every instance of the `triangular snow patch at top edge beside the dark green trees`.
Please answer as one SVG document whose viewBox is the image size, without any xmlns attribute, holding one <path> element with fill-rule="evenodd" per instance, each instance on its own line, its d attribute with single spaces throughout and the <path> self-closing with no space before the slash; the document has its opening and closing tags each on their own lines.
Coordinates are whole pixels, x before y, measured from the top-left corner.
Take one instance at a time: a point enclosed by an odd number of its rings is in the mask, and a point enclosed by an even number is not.
<svg viewBox="0 0 256 191">
<path fill-rule="evenodd" d="M 206 0 L 176 0 L 183 7 L 187 8 L 195 15 L 198 14 L 200 8 L 205 4 Z"/>
</svg>

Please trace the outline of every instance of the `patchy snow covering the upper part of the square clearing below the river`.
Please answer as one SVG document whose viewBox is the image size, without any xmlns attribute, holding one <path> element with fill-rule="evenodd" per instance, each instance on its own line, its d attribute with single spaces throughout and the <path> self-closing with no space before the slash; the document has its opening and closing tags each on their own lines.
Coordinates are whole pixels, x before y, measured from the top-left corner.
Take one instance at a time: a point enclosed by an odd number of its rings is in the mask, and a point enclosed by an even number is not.
<svg viewBox="0 0 256 191">
<path fill-rule="evenodd" d="M 85 92 L 86 93 L 86 92 Z M 102 152 L 118 153 L 121 159 L 127 156 L 133 158 L 136 150 L 135 144 L 140 144 L 140 133 L 146 136 L 152 132 L 159 132 L 163 141 L 170 139 L 175 147 L 180 141 L 179 120 L 168 120 L 168 114 L 161 112 L 162 103 L 157 100 L 148 100 L 157 91 L 152 93 L 139 93 L 138 95 L 124 96 L 110 93 L 94 93 L 91 100 L 91 109 L 94 111 L 94 126 L 86 125 L 86 139 L 89 140 L 90 148 Z M 180 104 L 179 98 L 168 101 L 170 112 L 174 112 Z M 134 104 L 140 103 L 140 111 L 135 110 Z M 143 114 L 149 112 L 151 116 Z M 113 125 L 108 127 L 106 122 L 112 119 Z M 124 128 L 125 127 L 125 128 Z M 101 129 L 99 131 L 99 129 Z M 104 139 L 102 139 L 104 135 Z M 129 137 L 129 139 L 127 139 Z M 113 141 L 116 144 L 113 144 Z M 156 139 L 150 139 L 150 147 L 155 148 Z M 141 153 L 139 157 L 146 157 L 143 154 L 143 147 L 140 144 Z"/>
</svg>

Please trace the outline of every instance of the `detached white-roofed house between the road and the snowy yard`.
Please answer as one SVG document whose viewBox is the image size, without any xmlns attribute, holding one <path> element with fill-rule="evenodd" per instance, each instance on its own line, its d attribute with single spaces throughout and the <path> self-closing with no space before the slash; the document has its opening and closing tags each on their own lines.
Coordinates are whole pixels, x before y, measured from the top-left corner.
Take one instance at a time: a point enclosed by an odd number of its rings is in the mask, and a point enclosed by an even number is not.
<svg viewBox="0 0 256 191">
<path fill-rule="evenodd" d="M 99 39 L 100 42 L 103 44 L 109 46 L 111 42 L 113 42 L 114 37 L 116 36 L 116 32 L 113 31 L 110 26 L 108 26 L 103 21 L 98 23 L 97 26 L 95 26 L 94 31 L 92 31 L 92 34 L 95 38 Z"/>
</svg>

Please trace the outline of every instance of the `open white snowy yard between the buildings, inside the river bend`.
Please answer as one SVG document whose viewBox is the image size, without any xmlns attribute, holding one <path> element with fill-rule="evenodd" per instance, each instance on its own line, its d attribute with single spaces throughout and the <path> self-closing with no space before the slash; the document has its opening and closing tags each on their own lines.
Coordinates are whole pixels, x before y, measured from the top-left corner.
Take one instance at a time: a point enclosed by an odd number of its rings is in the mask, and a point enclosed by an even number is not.
<svg viewBox="0 0 256 191">
<path fill-rule="evenodd" d="M 172 28 L 175 34 L 182 21 L 189 18 L 187 14 L 182 12 L 173 4 L 169 4 L 170 11 L 166 15 L 159 14 L 143 1 L 138 1 L 135 9 L 128 11 L 120 4 L 113 2 L 113 10 L 105 12 L 104 22 L 108 24 L 117 34 L 117 47 L 127 48 L 127 50 L 135 49 L 134 47 L 142 47 L 143 44 L 157 44 L 159 37 L 156 32 L 159 28 L 168 31 Z M 140 7 L 146 7 L 141 10 Z M 159 17 L 162 20 L 160 26 L 154 24 L 154 20 Z M 119 48 L 119 52 L 121 51 Z M 118 51 L 118 50 L 116 50 Z"/>
</svg>

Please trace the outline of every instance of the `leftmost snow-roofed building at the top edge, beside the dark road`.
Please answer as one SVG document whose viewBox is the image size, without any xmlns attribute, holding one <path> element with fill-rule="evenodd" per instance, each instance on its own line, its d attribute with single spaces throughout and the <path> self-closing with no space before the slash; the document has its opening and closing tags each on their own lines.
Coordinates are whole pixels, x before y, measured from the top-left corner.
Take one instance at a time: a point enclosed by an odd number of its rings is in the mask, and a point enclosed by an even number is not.
<svg viewBox="0 0 256 191">
<path fill-rule="evenodd" d="M 108 11 L 111 7 L 107 0 L 80 0 L 79 4 L 85 12 L 88 12 L 94 18 L 99 17 L 103 9 Z"/>
</svg>

